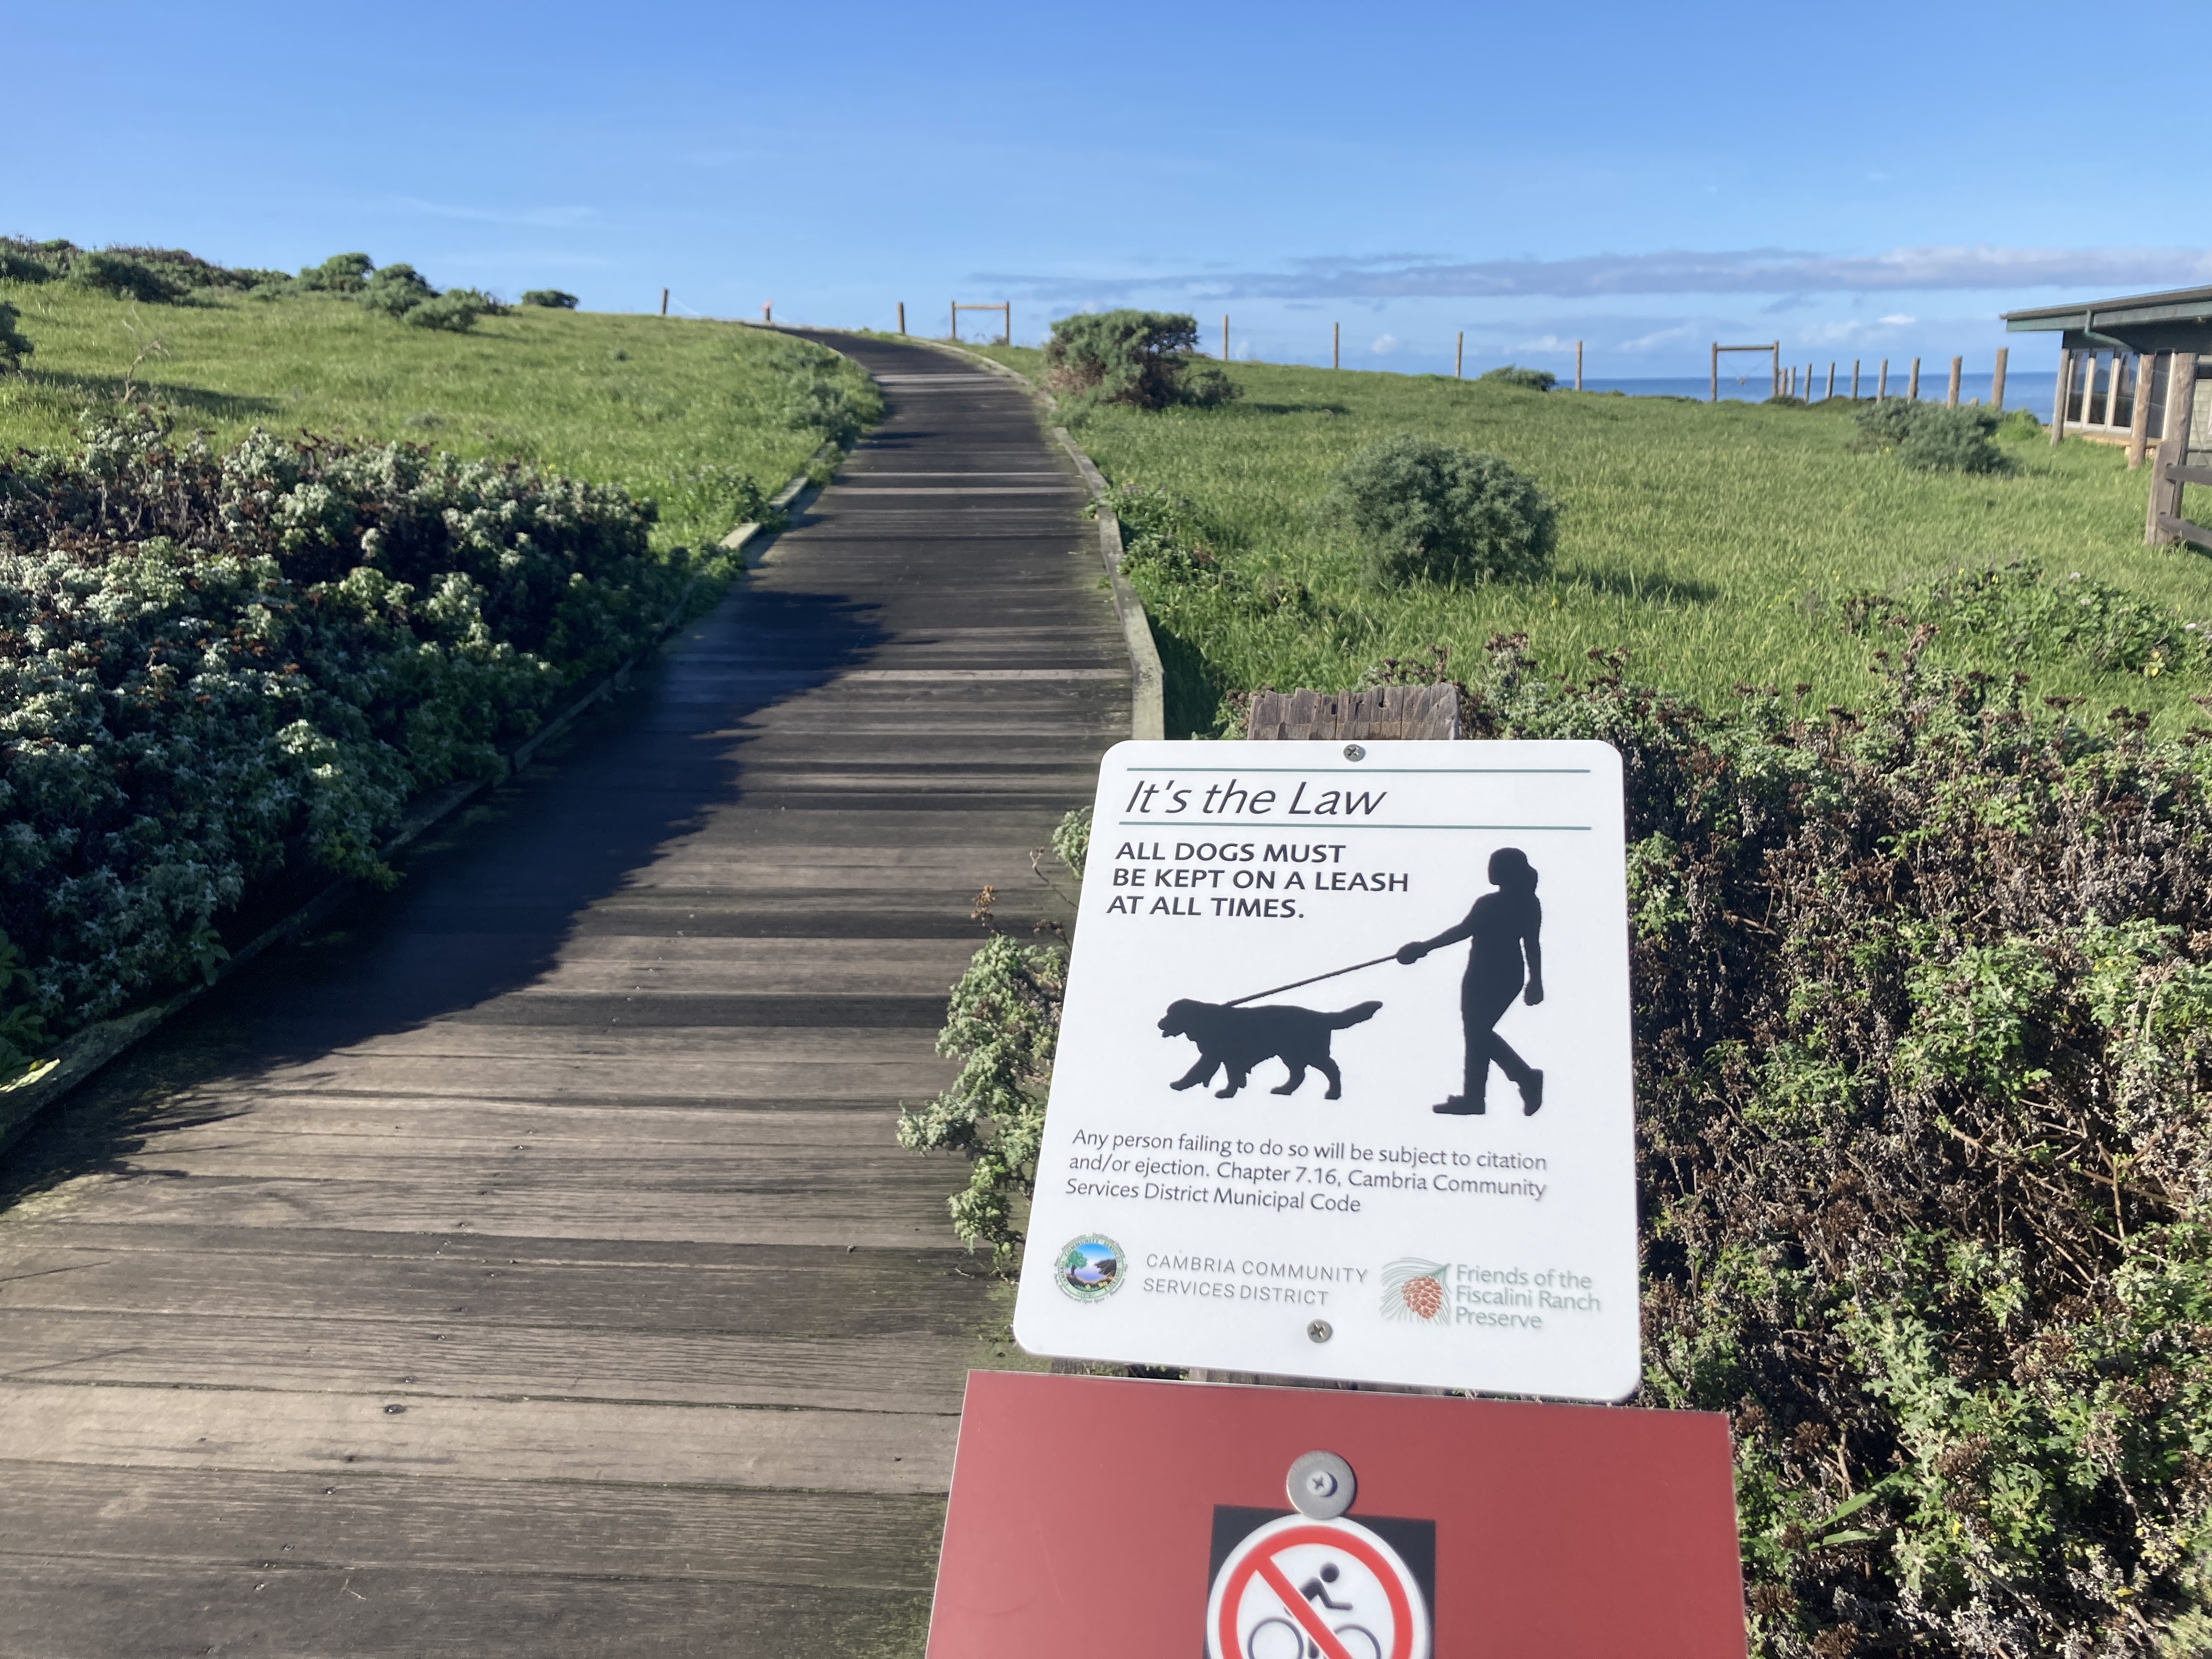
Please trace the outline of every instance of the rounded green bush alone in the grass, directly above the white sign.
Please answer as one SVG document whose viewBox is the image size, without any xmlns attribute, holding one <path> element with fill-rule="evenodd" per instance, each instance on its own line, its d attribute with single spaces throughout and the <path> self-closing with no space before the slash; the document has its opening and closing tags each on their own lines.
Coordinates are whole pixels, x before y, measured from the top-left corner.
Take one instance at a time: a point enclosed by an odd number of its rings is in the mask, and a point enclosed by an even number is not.
<svg viewBox="0 0 2212 1659">
<path fill-rule="evenodd" d="M 1380 588 L 1520 582 L 1551 568 L 1557 504 L 1500 456 L 1400 434 L 1358 451 L 1323 498 Z"/>
</svg>

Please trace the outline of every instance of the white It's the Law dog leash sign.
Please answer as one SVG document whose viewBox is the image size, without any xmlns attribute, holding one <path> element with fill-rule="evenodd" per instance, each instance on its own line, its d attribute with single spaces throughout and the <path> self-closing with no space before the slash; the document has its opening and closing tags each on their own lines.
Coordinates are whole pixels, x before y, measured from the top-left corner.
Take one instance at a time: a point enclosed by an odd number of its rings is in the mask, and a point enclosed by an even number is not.
<svg viewBox="0 0 2212 1659">
<path fill-rule="evenodd" d="M 1119 743 L 1013 1332 L 1033 1354 L 1637 1387 L 1608 743 Z"/>
</svg>

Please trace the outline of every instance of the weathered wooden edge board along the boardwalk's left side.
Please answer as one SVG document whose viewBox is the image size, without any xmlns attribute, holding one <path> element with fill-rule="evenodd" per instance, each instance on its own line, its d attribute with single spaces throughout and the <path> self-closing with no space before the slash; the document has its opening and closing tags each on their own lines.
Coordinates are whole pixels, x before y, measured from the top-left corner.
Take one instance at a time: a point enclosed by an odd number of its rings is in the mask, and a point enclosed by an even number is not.
<svg viewBox="0 0 2212 1659">
<path fill-rule="evenodd" d="M 779 489 L 770 498 L 768 504 L 783 511 L 803 509 L 805 502 L 812 500 L 812 493 L 816 489 L 812 469 L 823 460 L 827 460 L 832 453 L 838 453 L 836 442 L 825 442 L 821 449 L 807 456 L 807 462 L 796 473 L 792 473 L 792 478 L 783 484 L 783 489 Z M 721 540 L 721 546 L 732 553 L 741 553 L 757 540 L 761 540 L 763 544 L 772 542 L 774 531 L 763 531 L 759 524 L 739 524 Z M 765 549 L 761 557 L 765 557 Z M 407 816 L 400 818 L 398 830 L 392 832 L 392 836 L 378 852 L 380 854 L 398 852 L 407 843 L 420 838 L 425 830 L 431 830 L 434 825 L 442 823 L 453 812 L 458 812 L 462 805 L 473 801 L 484 787 L 520 772 L 524 765 L 531 763 L 531 757 L 538 754 L 538 748 L 542 743 L 568 730 L 568 726 L 573 726 L 584 710 L 597 706 L 611 690 L 626 686 L 637 664 L 644 661 L 644 657 L 650 655 L 653 650 L 659 650 L 661 644 L 666 644 L 668 637 L 677 630 L 677 624 L 684 619 L 684 606 L 690 604 L 690 595 L 692 588 L 686 586 L 684 593 L 677 597 L 675 608 L 668 613 L 668 619 L 661 624 L 659 637 L 655 639 L 653 646 L 639 650 L 633 657 L 624 657 L 622 664 L 617 664 L 604 679 L 599 679 L 588 690 L 580 692 L 575 699 L 568 701 L 566 708 L 546 719 L 544 726 L 540 726 L 535 732 L 515 743 L 515 748 L 509 750 L 504 757 L 500 757 L 504 768 L 498 779 L 460 779 L 458 783 L 447 783 L 442 790 L 431 790 L 429 794 L 409 805 Z M 303 929 L 330 916 L 330 911 L 334 911 L 338 905 L 352 898 L 354 885 L 356 883 L 352 876 L 341 876 L 338 880 L 330 883 L 319 894 L 314 894 L 310 900 L 305 900 L 299 909 L 272 922 L 252 940 L 232 951 L 221 964 L 217 964 L 215 973 L 201 980 L 199 984 L 188 984 L 181 991 L 175 991 L 173 995 L 164 998 L 161 1002 L 153 1002 L 142 1009 L 131 1009 L 128 1013 L 117 1013 L 113 1020 L 100 1020 L 97 1024 L 86 1026 L 73 1037 L 66 1037 L 55 1048 L 53 1060 L 44 1062 L 42 1066 L 33 1066 L 29 1073 L 24 1073 L 11 1084 L 0 1084 L 0 1150 L 11 1146 L 42 1110 L 53 1106 L 58 1099 L 66 1097 L 77 1084 L 86 1082 L 111 1060 L 115 1060 L 133 1044 L 137 1044 L 139 1037 L 148 1035 L 150 1031 L 159 1031 L 175 1015 L 184 1013 L 190 1004 L 199 1002 L 199 998 L 204 998 L 208 991 L 212 991 L 217 984 L 228 980 L 232 973 L 237 973 L 241 967 L 252 962 L 270 947 L 283 945 Z"/>
</svg>

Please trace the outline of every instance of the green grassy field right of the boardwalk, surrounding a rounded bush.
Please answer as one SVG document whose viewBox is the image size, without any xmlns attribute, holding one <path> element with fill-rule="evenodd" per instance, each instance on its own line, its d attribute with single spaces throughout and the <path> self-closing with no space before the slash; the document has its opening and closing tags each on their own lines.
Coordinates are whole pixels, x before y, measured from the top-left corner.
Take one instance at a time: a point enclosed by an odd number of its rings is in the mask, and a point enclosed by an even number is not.
<svg viewBox="0 0 2212 1659">
<path fill-rule="evenodd" d="M 987 354 L 1031 374 L 1040 358 L 1024 347 Z M 2141 544 L 2148 471 L 2130 473 L 2101 445 L 2013 440 L 2006 476 L 1916 473 L 1854 451 L 1840 403 L 1710 407 L 1440 376 L 1230 372 L 1239 403 L 1106 409 L 1077 434 L 1117 484 L 1190 498 L 1252 577 L 1239 591 L 1146 593 L 1172 681 L 1170 726 L 1206 730 L 1219 690 L 1343 688 L 1385 657 L 1438 641 L 1469 653 L 1491 633 L 1526 633 L 1546 666 L 1568 672 L 1593 648 L 1624 648 L 1632 677 L 1708 703 L 1756 681 L 1809 684 L 1814 701 L 1854 706 L 1882 641 L 1847 630 L 1838 599 L 2011 560 L 2059 584 L 2079 571 L 2168 611 L 2177 628 L 2212 619 L 2212 560 Z M 1564 509 L 1555 575 L 1460 593 L 1365 591 L 1358 557 L 1312 511 L 1332 469 L 1396 431 L 1491 449 L 1533 473 Z M 1938 655 L 2020 666 L 2037 695 L 2152 710 L 2163 728 L 2190 717 L 2192 692 L 2212 690 L 2199 672 L 2115 672 L 2081 650 L 2031 644 L 2022 657 L 2013 641 L 1955 635 Z"/>
</svg>

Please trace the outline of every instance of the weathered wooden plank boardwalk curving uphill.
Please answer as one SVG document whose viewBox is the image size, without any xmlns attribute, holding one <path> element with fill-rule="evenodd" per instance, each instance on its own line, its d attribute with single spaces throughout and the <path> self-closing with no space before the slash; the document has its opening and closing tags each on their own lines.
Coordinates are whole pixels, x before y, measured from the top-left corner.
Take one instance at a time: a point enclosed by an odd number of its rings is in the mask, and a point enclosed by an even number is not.
<svg viewBox="0 0 2212 1659">
<path fill-rule="evenodd" d="M 0 1655 L 920 1652 L 1004 1303 L 900 1152 L 1128 732 L 1026 400 L 891 414 L 385 898 L 0 1166 Z"/>
</svg>

